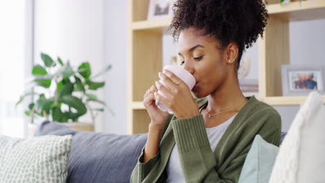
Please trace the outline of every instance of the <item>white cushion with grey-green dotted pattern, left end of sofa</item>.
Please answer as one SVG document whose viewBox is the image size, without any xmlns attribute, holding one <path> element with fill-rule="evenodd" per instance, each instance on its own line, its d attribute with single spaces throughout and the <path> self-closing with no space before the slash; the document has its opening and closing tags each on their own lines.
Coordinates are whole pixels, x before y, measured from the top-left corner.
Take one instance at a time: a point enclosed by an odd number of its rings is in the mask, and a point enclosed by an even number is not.
<svg viewBox="0 0 325 183">
<path fill-rule="evenodd" d="M 72 135 L 19 139 L 0 135 L 0 182 L 66 182 Z"/>
</svg>

